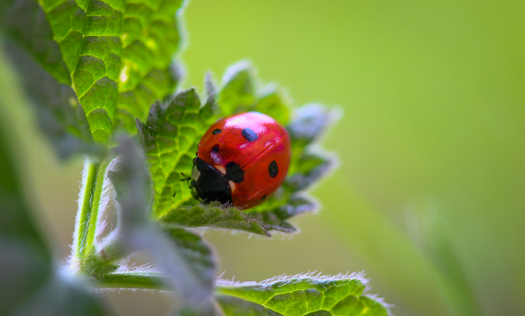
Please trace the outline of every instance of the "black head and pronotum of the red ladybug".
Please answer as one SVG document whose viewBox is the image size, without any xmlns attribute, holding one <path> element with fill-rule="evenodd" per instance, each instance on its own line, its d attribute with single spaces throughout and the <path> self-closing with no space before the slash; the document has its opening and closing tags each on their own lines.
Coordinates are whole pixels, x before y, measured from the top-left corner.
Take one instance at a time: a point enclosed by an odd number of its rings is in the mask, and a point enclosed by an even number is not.
<svg viewBox="0 0 525 316">
<path fill-rule="evenodd" d="M 232 203 L 232 191 L 226 177 L 199 157 L 193 159 L 190 188 L 193 197 L 203 203 Z"/>
</svg>

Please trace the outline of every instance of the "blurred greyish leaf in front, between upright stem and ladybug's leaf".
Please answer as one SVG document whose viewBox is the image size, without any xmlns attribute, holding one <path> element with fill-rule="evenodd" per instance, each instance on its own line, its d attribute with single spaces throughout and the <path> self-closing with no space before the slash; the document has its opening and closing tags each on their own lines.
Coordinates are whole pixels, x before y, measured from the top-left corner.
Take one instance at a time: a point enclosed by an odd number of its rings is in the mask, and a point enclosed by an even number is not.
<svg viewBox="0 0 525 316">
<path fill-rule="evenodd" d="M 166 276 L 166 286 L 180 296 L 183 309 L 212 314 L 213 266 L 211 260 L 206 261 L 204 244 L 180 230 L 172 230 L 170 238 L 150 219 L 153 196 L 144 153 L 131 138 L 121 136 L 119 141 L 116 153 L 121 160 L 111 175 L 119 211 L 117 244 L 128 254 L 149 255 Z M 197 257 L 206 264 L 196 267 Z"/>
</svg>

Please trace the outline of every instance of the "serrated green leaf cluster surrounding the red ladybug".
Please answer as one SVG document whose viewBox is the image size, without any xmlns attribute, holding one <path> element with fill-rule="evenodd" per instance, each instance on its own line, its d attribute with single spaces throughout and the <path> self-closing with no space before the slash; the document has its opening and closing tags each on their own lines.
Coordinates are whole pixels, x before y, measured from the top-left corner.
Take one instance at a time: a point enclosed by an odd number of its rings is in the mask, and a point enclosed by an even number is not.
<svg viewBox="0 0 525 316">
<path fill-rule="evenodd" d="M 161 222 L 186 225 L 187 220 L 198 218 L 187 227 L 232 228 L 270 236 L 270 230 L 293 233 L 296 228 L 287 220 L 318 208 L 304 191 L 334 164 L 334 157 L 319 150 L 315 143 L 337 113 L 318 104 L 307 104 L 292 112 L 281 91 L 272 85 L 258 87 L 253 74 L 247 62 L 239 62 L 226 71 L 218 92 L 211 76 L 206 77 L 208 98 L 204 105 L 192 88 L 164 104 L 155 103 L 148 120 L 138 122 L 155 182 L 153 212 Z M 244 213 L 227 206 L 196 205 L 184 174 L 191 173 L 199 140 L 218 118 L 244 111 L 272 115 L 287 127 L 292 160 L 285 184 L 267 201 Z M 242 214 L 244 223 L 236 214 Z"/>
</svg>

